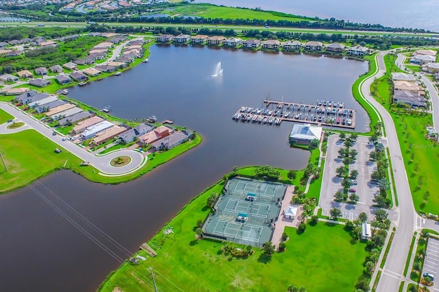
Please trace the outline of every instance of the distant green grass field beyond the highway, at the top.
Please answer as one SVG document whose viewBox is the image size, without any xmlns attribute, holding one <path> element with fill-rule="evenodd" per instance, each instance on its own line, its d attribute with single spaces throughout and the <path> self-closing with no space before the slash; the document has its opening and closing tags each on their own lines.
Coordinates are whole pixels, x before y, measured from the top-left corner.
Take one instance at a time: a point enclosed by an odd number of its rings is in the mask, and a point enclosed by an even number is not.
<svg viewBox="0 0 439 292">
<path fill-rule="evenodd" d="M 305 16 L 296 16 L 292 14 L 281 14 L 265 11 L 250 10 L 245 8 L 232 8 L 225 6 L 217 6 L 211 4 L 191 4 L 177 6 L 172 10 L 163 10 L 163 14 L 171 16 L 191 15 L 200 16 L 204 19 L 261 19 L 261 20 L 286 20 L 286 21 L 309 21 L 314 20 Z M 278 14 L 278 15 L 276 15 Z"/>
</svg>

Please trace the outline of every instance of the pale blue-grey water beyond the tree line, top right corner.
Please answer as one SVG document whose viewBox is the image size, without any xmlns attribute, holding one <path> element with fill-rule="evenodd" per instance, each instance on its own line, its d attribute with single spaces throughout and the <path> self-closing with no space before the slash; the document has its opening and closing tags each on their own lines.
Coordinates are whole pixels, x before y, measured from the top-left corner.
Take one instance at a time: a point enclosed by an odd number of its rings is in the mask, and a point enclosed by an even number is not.
<svg viewBox="0 0 439 292">
<path fill-rule="evenodd" d="M 344 19 L 379 23 L 389 27 L 412 27 L 439 32 L 439 1 L 435 0 L 195 0 L 232 7 L 262 8 L 321 19 Z"/>
</svg>

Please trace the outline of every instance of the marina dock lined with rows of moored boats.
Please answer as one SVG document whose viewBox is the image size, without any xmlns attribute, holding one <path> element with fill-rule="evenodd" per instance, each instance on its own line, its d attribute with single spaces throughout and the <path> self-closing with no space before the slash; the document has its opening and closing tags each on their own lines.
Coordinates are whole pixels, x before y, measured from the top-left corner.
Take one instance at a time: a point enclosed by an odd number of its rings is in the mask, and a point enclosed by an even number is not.
<svg viewBox="0 0 439 292">
<path fill-rule="evenodd" d="M 233 115 L 235 121 L 281 125 L 283 121 L 309 123 L 328 127 L 355 128 L 357 110 L 344 108 L 337 101 L 317 101 L 316 104 L 298 104 L 265 99 L 265 108 L 242 106 Z"/>
</svg>

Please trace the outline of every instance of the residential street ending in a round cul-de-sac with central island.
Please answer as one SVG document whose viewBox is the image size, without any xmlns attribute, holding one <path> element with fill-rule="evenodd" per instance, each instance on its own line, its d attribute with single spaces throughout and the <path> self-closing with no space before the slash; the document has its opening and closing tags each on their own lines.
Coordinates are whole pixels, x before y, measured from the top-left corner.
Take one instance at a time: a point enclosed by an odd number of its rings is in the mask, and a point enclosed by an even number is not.
<svg viewBox="0 0 439 292">
<path fill-rule="evenodd" d="M 3 102 L 0 102 L 0 108 L 2 110 L 5 110 L 5 112 L 8 112 L 9 114 L 12 114 L 12 116 L 16 117 L 16 119 L 18 119 L 19 121 L 23 121 L 24 123 L 26 123 L 26 125 L 29 125 L 29 127 L 31 127 L 32 129 L 40 132 L 40 134 L 43 134 L 51 141 L 54 141 L 54 143 L 60 145 L 60 147 L 67 149 L 75 156 L 78 156 L 80 159 L 91 162 L 91 165 L 93 165 L 93 167 L 95 167 L 102 173 L 106 173 L 108 175 L 122 175 L 123 173 L 134 171 L 142 165 L 143 156 L 137 151 L 121 150 L 112 152 L 111 154 L 108 154 L 106 156 L 94 156 L 88 151 L 82 149 L 81 147 L 78 147 L 78 145 L 75 145 L 71 141 L 62 141 L 62 136 L 52 135 L 53 131 L 51 129 L 30 118 L 26 114 L 23 114 L 23 112 L 17 110 L 16 108 L 13 108 L 12 106 Z M 10 132 L 8 131 L 5 131 L 3 133 L 0 132 L 0 134 L 9 133 Z M 123 167 L 112 167 L 110 165 L 110 161 L 117 156 L 129 156 L 131 158 L 131 162 Z"/>
</svg>

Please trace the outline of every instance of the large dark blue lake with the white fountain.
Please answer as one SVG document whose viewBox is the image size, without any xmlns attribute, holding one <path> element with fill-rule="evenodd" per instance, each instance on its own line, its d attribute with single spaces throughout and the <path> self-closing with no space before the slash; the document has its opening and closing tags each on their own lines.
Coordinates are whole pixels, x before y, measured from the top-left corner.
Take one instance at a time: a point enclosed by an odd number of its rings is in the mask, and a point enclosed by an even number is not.
<svg viewBox="0 0 439 292">
<path fill-rule="evenodd" d="M 261 107 L 267 95 L 344 101 L 358 108 L 357 130 L 366 130 L 366 112 L 351 93 L 366 62 L 208 47 L 150 49 L 149 63 L 71 88 L 69 95 L 96 108 L 110 105 L 112 114 L 126 119 L 173 119 L 200 133 L 202 144 L 132 182 L 95 184 L 58 171 L 1 196 L 2 290 L 94 291 L 120 258 L 233 166 L 305 167 L 309 153 L 287 143 L 292 123 L 235 122 L 241 106 Z M 217 62 L 224 75 L 213 78 Z"/>
</svg>

